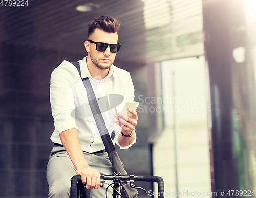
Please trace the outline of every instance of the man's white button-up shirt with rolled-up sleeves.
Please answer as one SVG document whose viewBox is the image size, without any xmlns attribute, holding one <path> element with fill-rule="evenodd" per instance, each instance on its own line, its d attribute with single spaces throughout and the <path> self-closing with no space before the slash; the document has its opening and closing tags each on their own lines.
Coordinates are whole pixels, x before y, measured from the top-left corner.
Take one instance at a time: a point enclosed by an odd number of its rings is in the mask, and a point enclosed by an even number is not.
<svg viewBox="0 0 256 198">
<path fill-rule="evenodd" d="M 87 57 L 78 61 L 82 78 L 88 77 L 93 87 L 94 94 L 98 98 L 101 114 L 104 118 L 108 132 L 115 131 L 113 144 L 118 144 L 117 137 L 121 133 L 121 127 L 114 120 L 116 113 L 113 103 L 108 102 L 113 94 L 118 94 L 124 98 L 121 104 L 116 104 L 117 112 L 120 112 L 125 102 L 133 101 L 134 86 L 130 73 L 115 67 L 110 67 L 108 76 L 102 80 L 93 79 L 86 63 Z M 114 95 L 115 96 L 115 95 Z M 113 98 L 113 97 L 112 97 Z M 104 101 L 100 103 L 100 101 Z M 80 138 L 80 145 L 83 151 L 93 153 L 105 149 L 102 139 L 99 135 L 95 120 L 93 118 L 86 89 L 83 85 L 77 68 L 68 61 L 63 61 L 54 69 L 51 75 L 50 102 L 52 115 L 54 119 L 55 130 L 51 136 L 54 143 L 62 144 L 59 134 L 68 129 L 77 129 Z M 136 135 L 136 134 L 134 134 Z M 129 146 L 120 146 L 121 149 L 128 149 L 136 142 L 135 140 Z"/>
</svg>

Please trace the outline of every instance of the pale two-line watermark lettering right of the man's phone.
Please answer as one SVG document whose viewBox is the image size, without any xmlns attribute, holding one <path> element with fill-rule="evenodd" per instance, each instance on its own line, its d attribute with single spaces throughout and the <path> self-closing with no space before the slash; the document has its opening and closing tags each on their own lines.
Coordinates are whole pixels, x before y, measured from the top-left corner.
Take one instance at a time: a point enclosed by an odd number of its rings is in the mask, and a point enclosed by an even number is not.
<svg viewBox="0 0 256 198">
<path fill-rule="evenodd" d="M 204 104 L 203 97 L 139 97 L 139 113 L 197 113 L 198 106 Z"/>
</svg>

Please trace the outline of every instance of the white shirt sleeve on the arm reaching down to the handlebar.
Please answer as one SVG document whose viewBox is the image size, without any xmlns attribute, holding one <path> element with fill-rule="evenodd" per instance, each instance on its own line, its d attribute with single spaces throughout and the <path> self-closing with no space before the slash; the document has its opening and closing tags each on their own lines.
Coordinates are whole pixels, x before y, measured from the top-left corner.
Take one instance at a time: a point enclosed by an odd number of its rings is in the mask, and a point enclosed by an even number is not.
<svg viewBox="0 0 256 198">
<path fill-rule="evenodd" d="M 55 132 L 59 135 L 62 131 L 75 128 L 76 100 L 71 73 L 60 68 L 54 69 L 51 75 L 50 103 L 54 119 Z"/>
</svg>

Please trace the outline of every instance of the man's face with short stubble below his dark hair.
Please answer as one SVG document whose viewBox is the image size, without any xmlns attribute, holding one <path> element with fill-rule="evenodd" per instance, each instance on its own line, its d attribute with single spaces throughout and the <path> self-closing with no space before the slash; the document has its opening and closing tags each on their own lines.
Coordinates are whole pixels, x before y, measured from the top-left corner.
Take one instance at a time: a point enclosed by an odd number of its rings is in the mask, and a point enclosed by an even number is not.
<svg viewBox="0 0 256 198">
<path fill-rule="evenodd" d="M 103 42 L 109 44 L 117 44 L 118 34 L 104 32 L 100 29 L 95 29 L 94 33 L 89 37 L 94 42 Z M 96 50 L 96 44 L 86 41 L 86 50 L 88 52 L 88 58 L 92 63 L 100 69 L 109 69 L 115 60 L 116 53 L 110 52 L 110 47 L 106 48 L 104 52 Z"/>
</svg>

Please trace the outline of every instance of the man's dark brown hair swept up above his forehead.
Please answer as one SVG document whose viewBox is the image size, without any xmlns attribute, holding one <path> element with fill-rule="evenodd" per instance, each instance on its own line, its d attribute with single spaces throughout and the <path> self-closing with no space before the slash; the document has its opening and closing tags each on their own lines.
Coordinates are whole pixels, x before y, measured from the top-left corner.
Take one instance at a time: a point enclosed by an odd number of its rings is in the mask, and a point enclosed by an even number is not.
<svg viewBox="0 0 256 198">
<path fill-rule="evenodd" d="M 88 24 L 88 38 L 94 32 L 96 28 L 103 30 L 108 33 L 115 33 L 118 32 L 120 27 L 119 20 L 115 18 L 111 18 L 109 16 L 99 16 L 93 19 Z"/>
</svg>

